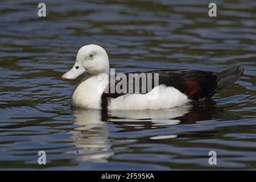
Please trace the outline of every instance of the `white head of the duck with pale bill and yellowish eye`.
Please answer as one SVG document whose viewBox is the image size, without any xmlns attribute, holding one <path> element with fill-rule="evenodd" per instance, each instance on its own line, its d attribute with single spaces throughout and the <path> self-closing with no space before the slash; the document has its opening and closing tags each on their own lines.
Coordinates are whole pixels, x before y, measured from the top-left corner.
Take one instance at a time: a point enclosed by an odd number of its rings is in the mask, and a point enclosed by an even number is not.
<svg viewBox="0 0 256 182">
<path fill-rule="evenodd" d="M 73 80 L 84 72 L 91 75 L 101 73 L 109 75 L 109 57 L 104 48 L 94 44 L 81 47 L 72 69 L 61 78 Z"/>
</svg>

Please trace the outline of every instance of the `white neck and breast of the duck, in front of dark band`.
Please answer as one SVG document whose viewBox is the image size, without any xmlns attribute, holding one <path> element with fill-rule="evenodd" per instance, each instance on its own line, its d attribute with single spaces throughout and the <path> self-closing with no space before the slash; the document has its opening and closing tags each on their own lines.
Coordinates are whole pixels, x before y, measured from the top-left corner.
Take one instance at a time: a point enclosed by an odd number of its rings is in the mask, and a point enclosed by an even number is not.
<svg viewBox="0 0 256 182">
<path fill-rule="evenodd" d="M 72 106 L 101 109 L 101 95 L 109 84 L 109 75 L 86 74 L 72 93 Z"/>
</svg>

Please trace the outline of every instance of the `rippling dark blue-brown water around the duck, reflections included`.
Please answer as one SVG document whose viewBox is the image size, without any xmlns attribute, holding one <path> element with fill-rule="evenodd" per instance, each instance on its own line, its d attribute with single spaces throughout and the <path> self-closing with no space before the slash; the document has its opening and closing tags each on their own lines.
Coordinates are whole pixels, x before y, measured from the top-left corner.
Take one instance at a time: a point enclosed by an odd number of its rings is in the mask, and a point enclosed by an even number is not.
<svg viewBox="0 0 256 182">
<path fill-rule="evenodd" d="M 46 18 L 38 1 L 0 2 L 0 169 L 256 169 L 256 1 L 214 1 L 216 18 L 211 1 L 43 2 Z M 240 63 L 245 75 L 189 107 L 72 110 L 81 77 L 60 76 L 91 43 L 117 72 Z"/>
</svg>

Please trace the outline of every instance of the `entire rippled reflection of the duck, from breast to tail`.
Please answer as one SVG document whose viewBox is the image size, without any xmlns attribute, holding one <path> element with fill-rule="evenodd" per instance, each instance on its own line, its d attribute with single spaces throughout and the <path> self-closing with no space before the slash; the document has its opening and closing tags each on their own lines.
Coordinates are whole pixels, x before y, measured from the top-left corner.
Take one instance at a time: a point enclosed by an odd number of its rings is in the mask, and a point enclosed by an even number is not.
<svg viewBox="0 0 256 182">
<path fill-rule="evenodd" d="M 76 154 L 81 155 L 79 160 L 94 160 L 97 162 L 106 162 L 114 155 L 113 150 L 118 150 L 109 142 L 109 122 L 113 123 L 115 129 L 118 128 L 115 133 L 122 133 L 124 131 L 154 130 L 170 125 L 188 125 L 212 118 L 226 120 L 239 118 L 237 115 L 217 107 L 214 101 L 162 110 L 110 110 L 106 112 L 105 110 L 74 108 L 73 115 L 76 117 L 74 125 L 79 126 L 76 131 L 72 131 L 75 146 L 79 148 Z M 108 121 L 108 123 L 105 121 Z M 154 134 L 154 131 L 152 134 Z M 179 137 L 179 134 L 172 131 L 170 135 L 165 133 L 164 135 L 146 137 L 144 140 L 166 137 L 176 138 Z M 136 137 L 134 138 L 136 139 Z M 125 142 L 130 143 L 131 138 L 122 138 L 122 143 Z"/>
</svg>

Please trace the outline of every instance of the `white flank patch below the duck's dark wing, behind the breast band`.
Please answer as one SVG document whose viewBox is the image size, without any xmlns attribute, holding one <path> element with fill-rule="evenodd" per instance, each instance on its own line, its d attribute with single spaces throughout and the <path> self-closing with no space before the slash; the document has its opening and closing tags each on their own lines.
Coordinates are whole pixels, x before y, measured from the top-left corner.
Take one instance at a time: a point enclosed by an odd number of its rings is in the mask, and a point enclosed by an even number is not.
<svg viewBox="0 0 256 182">
<path fill-rule="evenodd" d="M 167 109 L 188 104 L 188 101 L 188 97 L 179 90 L 159 85 L 147 94 L 125 94 L 111 98 L 108 109 Z"/>
</svg>

